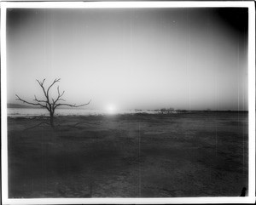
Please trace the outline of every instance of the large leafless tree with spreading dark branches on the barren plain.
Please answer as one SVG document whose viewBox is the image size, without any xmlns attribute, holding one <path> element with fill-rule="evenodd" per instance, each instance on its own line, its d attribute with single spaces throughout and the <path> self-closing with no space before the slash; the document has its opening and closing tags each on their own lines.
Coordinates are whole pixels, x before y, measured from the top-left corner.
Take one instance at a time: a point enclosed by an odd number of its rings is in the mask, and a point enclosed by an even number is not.
<svg viewBox="0 0 256 205">
<path fill-rule="evenodd" d="M 75 104 L 67 104 L 67 103 L 61 103 L 61 101 L 65 102 L 66 100 L 62 99 L 62 96 L 63 94 L 65 93 L 65 91 L 62 91 L 60 92 L 60 88 L 59 86 L 57 87 L 57 92 L 58 92 L 58 95 L 56 97 L 56 99 L 53 99 L 49 96 L 49 90 L 50 88 L 52 88 L 54 86 L 55 83 L 59 83 L 61 80 L 61 78 L 56 78 L 54 80 L 53 83 L 51 83 L 49 85 L 48 88 L 45 88 L 44 86 L 44 81 L 45 79 L 40 82 L 37 80 L 39 86 L 43 89 L 44 91 L 44 100 L 38 100 L 37 96 L 34 95 L 34 102 L 28 102 L 26 100 L 23 100 L 20 98 L 20 96 L 18 94 L 15 94 L 17 99 L 16 100 L 20 100 L 22 101 L 23 103 L 26 103 L 26 104 L 29 104 L 29 105 L 35 105 L 35 106 L 41 106 L 45 109 L 47 109 L 47 111 L 49 111 L 49 121 L 50 121 L 50 125 L 52 127 L 54 127 L 54 115 L 55 115 L 55 109 L 61 105 L 66 105 L 66 106 L 70 106 L 70 107 L 80 107 L 80 106 L 84 106 L 84 105 L 89 105 L 90 104 L 90 101 L 86 104 L 82 104 L 82 105 L 75 105 Z"/>
</svg>

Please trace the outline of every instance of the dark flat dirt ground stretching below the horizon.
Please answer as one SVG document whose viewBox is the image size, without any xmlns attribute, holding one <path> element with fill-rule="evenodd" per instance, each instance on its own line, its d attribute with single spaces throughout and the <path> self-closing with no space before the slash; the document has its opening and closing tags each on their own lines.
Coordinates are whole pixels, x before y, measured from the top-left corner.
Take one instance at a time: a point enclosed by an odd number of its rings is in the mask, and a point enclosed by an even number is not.
<svg viewBox="0 0 256 205">
<path fill-rule="evenodd" d="M 247 112 L 9 118 L 9 197 L 240 196 Z M 58 125 L 59 124 L 59 125 Z"/>
</svg>

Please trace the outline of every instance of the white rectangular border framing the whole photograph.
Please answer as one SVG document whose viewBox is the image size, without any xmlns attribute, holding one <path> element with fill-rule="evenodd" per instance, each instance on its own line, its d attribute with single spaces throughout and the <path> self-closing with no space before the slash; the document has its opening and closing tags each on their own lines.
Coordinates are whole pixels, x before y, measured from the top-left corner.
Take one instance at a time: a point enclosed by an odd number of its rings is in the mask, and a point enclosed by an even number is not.
<svg viewBox="0 0 256 205">
<path fill-rule="evenodd" d="M 121 9 L 121 8 L 247 8 L 248 9 L 248 196 L 166 198 L 33 198 L 8 197 L 7 146 L 7 9 Z M 96 203 L 254 203 L 255 202 L 255 9 L 253 2 L 2 2 L 1 3 L 1 134 L 3 204 L 96 204 Z"/>
</svg>

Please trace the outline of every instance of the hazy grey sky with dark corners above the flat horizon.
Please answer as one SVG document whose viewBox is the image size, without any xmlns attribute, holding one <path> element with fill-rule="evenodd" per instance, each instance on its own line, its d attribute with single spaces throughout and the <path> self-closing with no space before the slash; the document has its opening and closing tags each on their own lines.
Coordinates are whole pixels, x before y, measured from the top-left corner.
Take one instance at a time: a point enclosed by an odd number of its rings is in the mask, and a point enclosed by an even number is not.
<svg viewBox="0 0 256 205">
<path fill-rule="evenodd" d="M 9 103 L 247 110 L 247 9 L 8 9 L 7 73 Z"/>
</svg>

